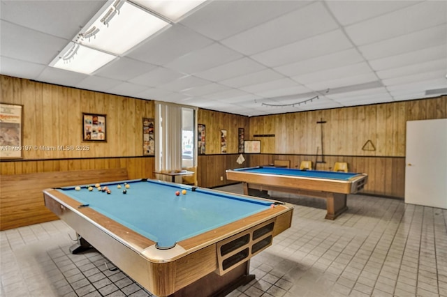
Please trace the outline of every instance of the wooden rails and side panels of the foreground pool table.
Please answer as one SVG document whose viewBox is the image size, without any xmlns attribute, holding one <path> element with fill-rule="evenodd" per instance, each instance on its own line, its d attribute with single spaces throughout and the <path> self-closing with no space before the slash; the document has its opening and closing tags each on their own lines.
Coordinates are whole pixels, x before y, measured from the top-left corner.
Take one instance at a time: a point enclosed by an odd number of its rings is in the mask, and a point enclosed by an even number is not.
<svg viewBox="0 0 447 297">
<path fill-rule="evenodd" d="M 124 273 L 157 296 L 200 296 L 197 291 L 205 294 L 203 296 L 211 296 L 216 293 L 215 287 L 222 289 L 230 283 L 240 282 L 241 274 L 249 275 L 252 255 L 223 272 L 219 268 L 222 264 L 219 263 L 217 244 L 266 221 L 274 222 L 272 236 L 275 236 L 291 226 L 293 213 L 290 204 L 268 208 L 249 218 L 180 241 L 175 252 L 162 251 L 160 258 L 159 254 L 150 252 L 154 241 L 92 208 L 78 208 L 80 203 L 75 199 L 54 189 L 45 190 L 44 199 L 47 208 Z M 191 270 L 191 267 L 200 269 Z"/>
</svg>

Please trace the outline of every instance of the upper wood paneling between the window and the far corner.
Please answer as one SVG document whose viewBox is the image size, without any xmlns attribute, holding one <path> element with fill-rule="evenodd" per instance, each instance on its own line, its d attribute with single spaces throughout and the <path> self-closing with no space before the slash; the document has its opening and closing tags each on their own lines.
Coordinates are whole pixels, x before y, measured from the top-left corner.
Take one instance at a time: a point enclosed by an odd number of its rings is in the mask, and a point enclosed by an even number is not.
<svg viewBox="0 0 447 297">
<path fill-rule="evenodd" d="M 227 131 L 227 153 L 237 153 L 239 128 L 244 128 L 245 140 L 249 140 L 249 117 L 225 112 L 198 109 L 197 122 L 205 125 L 205 153 L 221 153 L 221 130 Z"/>
</svg>

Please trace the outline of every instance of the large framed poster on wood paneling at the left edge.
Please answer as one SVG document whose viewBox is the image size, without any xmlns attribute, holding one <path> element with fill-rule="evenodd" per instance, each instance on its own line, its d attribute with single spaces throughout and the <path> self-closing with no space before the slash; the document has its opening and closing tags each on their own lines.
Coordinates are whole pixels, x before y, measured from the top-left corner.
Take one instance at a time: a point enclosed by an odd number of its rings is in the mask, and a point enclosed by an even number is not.
<svg viewBox="0 0 447 297">
<path fill-rule="evenodd" d="M 22 151 L 22 105 L 0 103 L 0 158 L 20 159 Z M 31 149 L 31 148 L 29 148 Z"/>
</svg>

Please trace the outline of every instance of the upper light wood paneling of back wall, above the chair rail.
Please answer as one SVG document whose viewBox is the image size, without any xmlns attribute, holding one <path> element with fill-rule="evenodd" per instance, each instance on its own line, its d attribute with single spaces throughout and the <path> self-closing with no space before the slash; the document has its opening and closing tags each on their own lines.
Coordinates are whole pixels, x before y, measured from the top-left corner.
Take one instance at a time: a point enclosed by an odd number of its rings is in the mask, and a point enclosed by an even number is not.
<svg viewBox="0 0 447 297">
<path fill-rule="evenodd" d="M 447 118 L 447 96 L 404 102 L 324 109 L 249 119 L 261 153 L 405 156 L 406 121 Z M 317 121 L 326 121 L 317 124 Z M 323 144 L 321 144 L 323 128 Z M 247 135 L 248 136 L 248 135 Z M 362 147 L 370 140 L 375 151 Z"/>
</svg>

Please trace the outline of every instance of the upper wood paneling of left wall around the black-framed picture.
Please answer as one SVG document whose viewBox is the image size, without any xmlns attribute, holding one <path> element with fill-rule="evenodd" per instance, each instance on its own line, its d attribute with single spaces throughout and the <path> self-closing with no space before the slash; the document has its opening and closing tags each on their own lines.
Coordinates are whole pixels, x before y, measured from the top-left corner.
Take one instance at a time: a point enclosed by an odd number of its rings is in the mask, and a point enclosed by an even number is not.
<svg viewBox="0 0 447 297">
<path fill-rule="evenodd" d="M 2 103 L 23 105 L 24 159 L 103 158 L 142 155 L 142 118 L 154 102 L 0 76 Z M 107 142 L 82 141 L 82 112 L 106 114 Z M 42 146 L 89 146 L 87 151 L 45 151 Z"/>
</svg>

